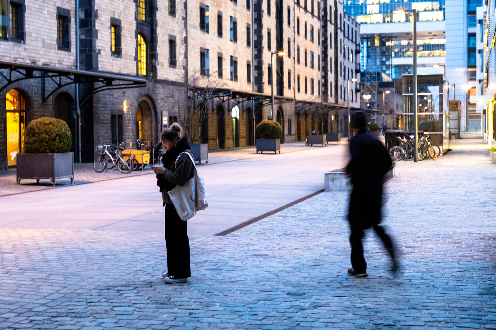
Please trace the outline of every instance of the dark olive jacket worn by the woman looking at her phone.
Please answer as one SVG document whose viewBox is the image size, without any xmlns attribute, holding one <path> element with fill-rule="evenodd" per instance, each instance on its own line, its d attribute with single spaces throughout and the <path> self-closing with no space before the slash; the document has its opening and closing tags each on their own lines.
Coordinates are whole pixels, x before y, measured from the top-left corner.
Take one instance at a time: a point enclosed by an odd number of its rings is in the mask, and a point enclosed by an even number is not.
<svg viewBox="0 0 496 330">
<path fill-rule="evenodd" d="M 185 151 L 189 152 L 192 156 L 190 149 L 186 149 Z M 174 185 L 170 185 L 171 188 L 169 191 L 174 189 L 177 185 L 184 186 L 186 182 L 194 176 L 194 170 L 194 164 L 186 154 L 180 155 L 176 162 L 171 162 L 163 174 L 163 178 Z M 164 205 L 165 203 L 172 203 L 167 189 L 162 191 L 162 201 L 164 202 Z"/>
</svg>

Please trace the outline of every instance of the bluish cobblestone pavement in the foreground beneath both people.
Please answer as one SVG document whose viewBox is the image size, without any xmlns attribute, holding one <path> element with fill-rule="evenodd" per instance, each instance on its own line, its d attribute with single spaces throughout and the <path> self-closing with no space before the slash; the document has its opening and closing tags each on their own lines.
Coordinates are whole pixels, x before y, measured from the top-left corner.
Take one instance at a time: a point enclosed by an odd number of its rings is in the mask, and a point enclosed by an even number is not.
<svg viewBox="0 0 496 330">
<path fill-rule="evenodd" d="M 496 329 L 495 175 L 487 151 L 399 162 L 369 277 L 346 275 L 347 195 L 325 192 L 227 236 L 190 237 L 164 284 L 162 235 L 0 232 L 0 329 Z"/>
</svg>

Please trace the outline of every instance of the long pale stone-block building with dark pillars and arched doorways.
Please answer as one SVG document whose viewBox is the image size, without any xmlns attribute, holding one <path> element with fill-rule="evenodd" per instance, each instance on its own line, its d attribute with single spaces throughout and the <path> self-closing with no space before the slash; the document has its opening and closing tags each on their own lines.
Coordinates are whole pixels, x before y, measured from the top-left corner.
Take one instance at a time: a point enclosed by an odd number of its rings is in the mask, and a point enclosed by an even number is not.
<svg viewBox="0 0 496 330">
<path fill-rule="evenodd" d="M 352 81 L 360 25 L 338 1 L 103 0 L 75 8 L 5 0 L 0 9 L 2 169 L 15 166 L 25 126 L 44 116 L 66 121 L 75 160 L 91 162 L 102 143 L 153 145 L 173 121 L 198 131 L 191 142 L 209 149 L 254 144 L 255 125 L 271 118 L 272 85 L 282 142 L 312 131 L 345 135 L 348 101 L 360 108 Z M 191 107 L 188 118 L 205 118 L 199 127 L 186 120 Z"/>
</svg>

